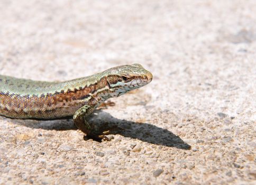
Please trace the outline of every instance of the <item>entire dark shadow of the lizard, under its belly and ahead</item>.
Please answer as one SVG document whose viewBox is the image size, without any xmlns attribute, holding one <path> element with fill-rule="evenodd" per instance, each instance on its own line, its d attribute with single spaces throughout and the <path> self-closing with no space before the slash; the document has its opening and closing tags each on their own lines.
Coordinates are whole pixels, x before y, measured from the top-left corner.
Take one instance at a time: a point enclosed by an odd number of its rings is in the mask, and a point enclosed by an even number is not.
<svg viewBox="0 0 256 185">
<path fill-rule="evenodd" d="M 6 118 L 7 119 L 7 118 Z M 42 128 L 47 130 L 76 130 L 72 118 L 61 118 L 54 120 L 40 119 L 13 119 L 15 124 L 23 125 L 31 128 Z M 96 110 L 92 116 L 88 117 L 88 122 L 97 127 L 110 128 L 111 134 L 120 134 L 124 137 L 136 138 L 143 142 L 163 145 L 168 147 L 176 147 L 182 150 L 190 150 L 191 146 L 184 142 L 179 136 L 173 134 L 167 129 L 160 128 L 148 123 L 136 123 L 118 119 L 111 114 Z M 107 125 L 107 126 L 106 126 Z M 115 127 L 113 130 L 111 128 Z"/>
</svg>

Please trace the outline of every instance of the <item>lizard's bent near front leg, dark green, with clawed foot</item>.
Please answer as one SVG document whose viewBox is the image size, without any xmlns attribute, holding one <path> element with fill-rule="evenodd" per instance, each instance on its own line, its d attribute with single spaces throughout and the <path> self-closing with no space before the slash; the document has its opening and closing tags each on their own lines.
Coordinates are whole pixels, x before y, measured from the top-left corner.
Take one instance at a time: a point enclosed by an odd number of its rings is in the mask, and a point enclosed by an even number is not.
<svg viewBox="0 0 256 185">
<path fill-rule="evenodd" d="M 106 138 L 105 133 L 93 130 L 93 127 L 86 121 L 86 117 L 92 114 L 94 109 L 95 108 L 92 106 L 85 105 L 75 112 L 73 119 L 75 125 L 80 131 L 84 132 L 87 137 L 99 140 L 100 138 Z"/>
</svg>

